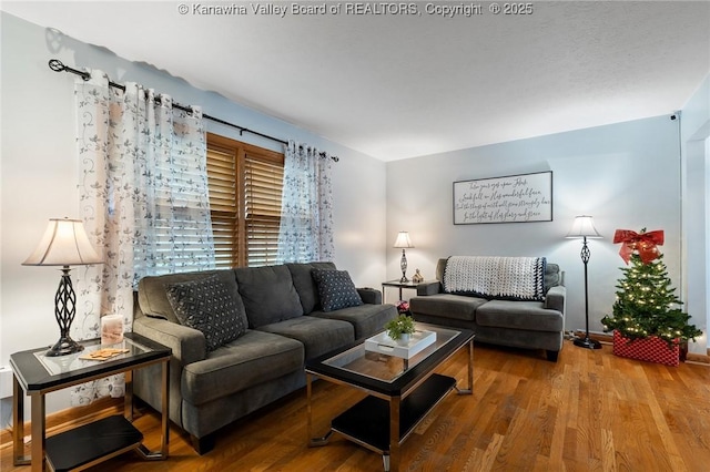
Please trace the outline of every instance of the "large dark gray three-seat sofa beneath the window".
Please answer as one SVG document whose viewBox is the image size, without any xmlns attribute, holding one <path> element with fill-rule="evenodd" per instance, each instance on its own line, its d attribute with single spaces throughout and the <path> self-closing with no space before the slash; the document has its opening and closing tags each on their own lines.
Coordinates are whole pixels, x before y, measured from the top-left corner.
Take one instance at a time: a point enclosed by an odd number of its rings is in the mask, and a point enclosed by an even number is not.
<svg viewBox="0 0 710 472">
<path fill-rule="evenodd" d="M 170 419 L 199 453 L 220 428 L 303 387 L 305 359 L 397 316 L 332 263 L 145 277 L 135 306 L 133 331 L 172 348 Z M 159 376 L 134 374 L 134 393 L 156 409 Z"/>
</svg>

